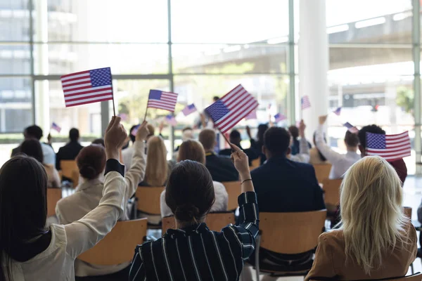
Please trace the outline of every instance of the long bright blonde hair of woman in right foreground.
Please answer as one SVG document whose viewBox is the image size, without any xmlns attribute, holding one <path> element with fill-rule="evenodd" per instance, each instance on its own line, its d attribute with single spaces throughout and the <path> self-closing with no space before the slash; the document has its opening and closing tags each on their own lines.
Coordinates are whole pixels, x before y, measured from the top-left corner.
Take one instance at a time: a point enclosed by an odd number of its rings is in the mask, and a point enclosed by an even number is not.
<svg viewBox="0 0 422 281">
<path fill-rule="evenodd" d="M 385 159 L 368 156 L 354 163 L 340 187 L 341 222 L 346 259 L 366 274 L 381 267 L 385 251 L 406 243 L 402 185 Z M 397 245 L 399 244 L 399 245 Z"/>
</svg>

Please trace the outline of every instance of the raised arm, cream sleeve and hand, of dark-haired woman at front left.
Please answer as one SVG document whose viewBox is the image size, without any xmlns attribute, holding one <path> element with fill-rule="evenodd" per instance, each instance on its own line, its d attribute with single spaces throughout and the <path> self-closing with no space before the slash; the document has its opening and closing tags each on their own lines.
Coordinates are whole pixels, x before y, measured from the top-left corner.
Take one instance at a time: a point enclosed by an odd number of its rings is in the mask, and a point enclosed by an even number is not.
<svg viewBox="0 0 422 281">
<path fill-rule="evenodd" d="M 120 117 L 113 117 L 104 136 L 106 143 L 106 179 L 100 204 L 79 221 L 65 226 L 67 237 L 66 251 L 76 258 L 79 254 L 94 247 L 116 224 L 124 209 L 126 183 L 123 178 L 124 166 L 119 159 L 127 133 L 120 124 Z"/>
</svg>

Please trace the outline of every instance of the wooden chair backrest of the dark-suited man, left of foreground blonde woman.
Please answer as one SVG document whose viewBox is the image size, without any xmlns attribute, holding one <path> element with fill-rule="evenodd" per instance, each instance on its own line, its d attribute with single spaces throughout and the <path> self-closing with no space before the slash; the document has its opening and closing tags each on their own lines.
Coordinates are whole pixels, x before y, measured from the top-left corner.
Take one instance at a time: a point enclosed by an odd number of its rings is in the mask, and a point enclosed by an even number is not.
<svg viewBox="0 0 422 281">
<path fill-rule="evenodd" d="M 327 211 L 260 212 L 260 247 L 281 254 L 300 254 L 318 245 Z"/>
</svg>

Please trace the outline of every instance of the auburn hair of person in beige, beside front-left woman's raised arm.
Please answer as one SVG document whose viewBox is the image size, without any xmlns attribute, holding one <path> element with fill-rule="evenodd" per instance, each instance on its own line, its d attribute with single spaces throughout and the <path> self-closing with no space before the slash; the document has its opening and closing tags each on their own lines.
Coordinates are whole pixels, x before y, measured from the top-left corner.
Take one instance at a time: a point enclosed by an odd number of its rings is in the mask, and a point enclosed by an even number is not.
<svg viewBox="0 0 422 281">
<path fill-rule="evenodd" d="M 92 180 L 98 177 L 106 166 L 106 151 L 101 145 L 88 145 L 79 151 L 76 164 L 82 178 Z"/>
</svg>

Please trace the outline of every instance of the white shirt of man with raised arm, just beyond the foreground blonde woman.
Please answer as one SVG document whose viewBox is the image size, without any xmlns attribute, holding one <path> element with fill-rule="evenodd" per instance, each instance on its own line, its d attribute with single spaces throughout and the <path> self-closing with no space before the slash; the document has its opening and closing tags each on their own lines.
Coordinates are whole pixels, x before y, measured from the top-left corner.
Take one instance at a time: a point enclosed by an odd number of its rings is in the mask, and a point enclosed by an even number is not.
<svg viewBox="0 0 422 281">
<path fill-rule="evenodd" d="M 315 133 L 315 144 L 319 152 L 331 163 L 330 176 L 328 178 L 343 178 L 343 175 L 355 162 L 361 159 L 357 152 L 347 151 L 346 154 L 340 154 L 332 150 L 324 141 L 324 128 L 318 126 Z"/>
</svg>

